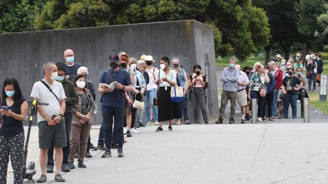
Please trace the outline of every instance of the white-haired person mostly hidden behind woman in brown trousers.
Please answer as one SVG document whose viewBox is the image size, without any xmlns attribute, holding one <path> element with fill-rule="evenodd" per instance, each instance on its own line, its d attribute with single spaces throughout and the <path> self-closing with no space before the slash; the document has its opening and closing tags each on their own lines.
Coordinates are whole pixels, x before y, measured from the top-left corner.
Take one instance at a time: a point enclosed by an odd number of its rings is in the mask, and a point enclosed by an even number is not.
<svg viewBox="0 0 328 184">
<path fill-rule="evenodd" d="M 85 66 L 79 67 L 78 70 L 77 70 L 77 74 L 83 74 L 85 76 L 85 78 L 87 79 L 88 74 L 89 74 L 88 68 L 85 67 Z M 91 80 L 86 80 L 85 87 L 90 90 L 90 93 L 92 95 L 92 99 L 95 102 L 96 101 L 96 93 L 95 93 L 95 90 L 94 90 L 93 82 Z M 87 158 L 92 157 L 89 150 L 91 150 L 91 151 L 97 150 L 97 148 L 95 146 L 93 146 L 93 144 L 91 143 L 90 135 L 89 135 L 89 139 L 88 139 L 87 152 L 85 154 L 85 157 L 87 157 Z M 78 157 L 78 150 L 75 154 L 75 158 L 77 158 L 77 157 Z"/>
</svg>

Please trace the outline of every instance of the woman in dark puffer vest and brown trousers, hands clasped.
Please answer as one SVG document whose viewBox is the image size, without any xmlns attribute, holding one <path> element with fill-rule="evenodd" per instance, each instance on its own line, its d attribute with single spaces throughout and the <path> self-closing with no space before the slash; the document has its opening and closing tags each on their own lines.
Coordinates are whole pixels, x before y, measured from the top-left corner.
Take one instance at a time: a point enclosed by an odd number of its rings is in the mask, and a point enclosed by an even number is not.
<svg viewBox="0 0 328 184">
<path fill-rule="evenodd" d="M 93 112 L 95 110 L 94 101 L 90 90 L 86 88 L 86 77 L 83 74 L 78 74 L 73 80 L 78 94 L 79 103 L 73 107 L 73 121 L 71 126 L 71 150 L 76 150 L 79 146 L 78 167 L 85 168 L 83 163 L 84 156 L 87 150 L 87 142 L 93 123 Z M 71 151 L 69 155 L 69 168 L 75 168 L 74 165 L 75 151 Z"/>
</svg>

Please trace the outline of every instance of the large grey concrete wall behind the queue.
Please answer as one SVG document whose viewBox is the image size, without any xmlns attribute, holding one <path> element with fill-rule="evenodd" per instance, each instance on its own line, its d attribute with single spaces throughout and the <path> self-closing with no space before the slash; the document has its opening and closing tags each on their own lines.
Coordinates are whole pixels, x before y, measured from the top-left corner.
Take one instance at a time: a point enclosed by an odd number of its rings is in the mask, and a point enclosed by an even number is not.
<svg viewBox="0 0 328 184">
<path fill-rule="evenodd" d="M 208 53 L 213 115 L 217 117 L 217 85 L 214 60 L 213 29 L 194 20 L 117 25 L 96 28 L 36 31 L 0 34 L 0 82 L 8 76 L 19 80 L 25 97 L 30 96 L 34 82 L 43 78 L 42 64 L 46 61 L 64 62 L 66 49 L 75 53 L 75 61 L 89 68 L 88 79 L 98 84 L 101 73 L 107 68 L 108 54 L 125 51 L 137 59 L 142 54 L 152 55 L 159 66 L 162 56 L 179 57 L 184 69 L 192 72 L 200 64 L 205 72 Z M 98 107 L 100 95 L 97 94 Z M 192 120 L 191 103 L 189 118 Z M 101 123 L 101 111 L 95 124 Z M 202 118 L 200 118 L 202 119 Z"/>
</svg>

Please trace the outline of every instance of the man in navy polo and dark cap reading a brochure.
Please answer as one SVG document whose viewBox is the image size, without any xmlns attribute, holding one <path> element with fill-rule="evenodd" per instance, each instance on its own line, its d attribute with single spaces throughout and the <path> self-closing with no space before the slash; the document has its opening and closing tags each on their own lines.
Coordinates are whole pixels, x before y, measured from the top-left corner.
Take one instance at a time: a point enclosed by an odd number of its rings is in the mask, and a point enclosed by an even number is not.
<svg viewBox="0 0 328 184">
<path fill-rule="evenodd" d="M 132 91 L 129 73 L 119 67 L 119 56 L 111 53 L 108 58 L 109 69 L 102 73 L 98 91 L 103 94 L 102 118 L 105 125 L 104 138 L 106 150 L 101 157 L 111 157 L 111 141 L 113 132 L 118 142 L 118 157 L 123 157 L 123 120 L 125 113 L 125 92 Z M 109 87 L 107 85 L 109 85 Z M 114 85 L 114 88 L 113 88 Z M 113 127 L 114 117 L 114 130 Z"/>
</svg>

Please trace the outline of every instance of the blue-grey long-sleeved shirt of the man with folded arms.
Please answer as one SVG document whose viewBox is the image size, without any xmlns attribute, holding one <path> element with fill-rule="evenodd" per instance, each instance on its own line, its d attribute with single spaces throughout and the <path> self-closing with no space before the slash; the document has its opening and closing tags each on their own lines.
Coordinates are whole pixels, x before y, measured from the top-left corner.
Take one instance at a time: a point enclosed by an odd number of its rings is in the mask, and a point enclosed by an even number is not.
<svg viewBox="0 0 328 184">
<path fill-rule="evenodd" d="M 239 79 L 239 69 L 234 68 L 233 71 L 230 71 L 229 67 L 225 67 L 221 75 L 221 81 L 223 81 L 222 89 L 225 91 L 237 91 L 238 79 Z"/>
</svg>

